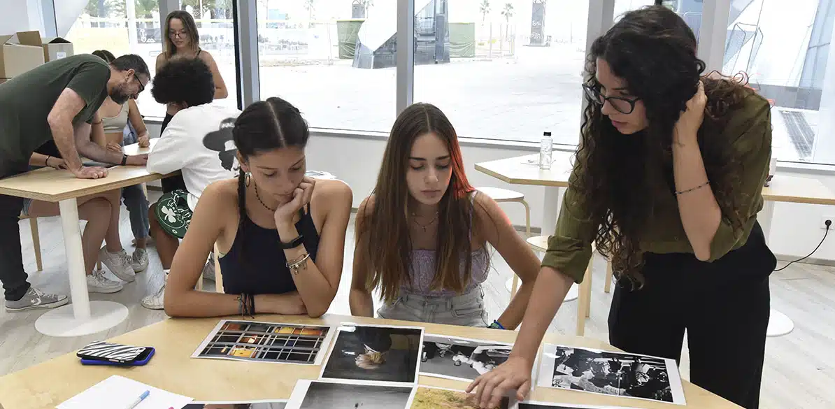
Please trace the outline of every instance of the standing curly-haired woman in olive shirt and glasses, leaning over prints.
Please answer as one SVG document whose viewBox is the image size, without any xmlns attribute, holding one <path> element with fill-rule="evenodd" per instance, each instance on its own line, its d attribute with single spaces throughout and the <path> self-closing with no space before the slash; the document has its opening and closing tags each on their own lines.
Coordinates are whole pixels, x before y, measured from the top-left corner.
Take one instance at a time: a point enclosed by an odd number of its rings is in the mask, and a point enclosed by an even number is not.
<svg viewBox="0 0 835 409">
<path fill-rule="evenodd" d="M 662 6 L 626 13 L 592 44 L 556 233 L 509 360 L 468 388 L 482 406 L 527 394 L 539 342 L 571 281 L 583 280 L 593 242 L 618 278 L 611 345 L 679 360 L 686 331 L 691 381 L 759 406 L 777 263 L 757 224 L 771 107 L 704 68 L 691 29 Z"/>
</svg>

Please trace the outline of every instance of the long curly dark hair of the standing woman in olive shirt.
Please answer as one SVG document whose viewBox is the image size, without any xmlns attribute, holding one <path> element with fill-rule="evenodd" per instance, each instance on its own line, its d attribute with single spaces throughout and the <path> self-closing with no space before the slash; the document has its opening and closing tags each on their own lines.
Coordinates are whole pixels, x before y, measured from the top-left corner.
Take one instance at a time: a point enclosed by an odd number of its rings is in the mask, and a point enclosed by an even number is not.
<svg viewBox="0 0 835 409">
<path fill-rule="evenodd" d="M 652 222 L 657 199 L 675 192 L 674 127 L 700 80 L 707 104 L 698 141 L 707 177 L 723 219 L 741 228 L 739 198 L 732 194 L 741 164 L 731 157 L 732 141 L 722 138 L 721 130 L 730 109 L 752 91 L 745 87 L 744 76 L 702 76 L 705 63 L 696 58 L 696 36 L 664 6 L 625 13 L 595 40 L 584 73 L 590 87 L 600 87 L 595 78 L 598 58 L 643 102 L 648 126 L 626 137 L 605 118 L 602 106 L 586 97 L 577 172 L 570 183 L 590 220 L 599 226 L 597 250 L 611 260 L 615 275 L 625 276 L 635 288 L 644 284 L 640 243 L 645 226 Z"/>
</svg>

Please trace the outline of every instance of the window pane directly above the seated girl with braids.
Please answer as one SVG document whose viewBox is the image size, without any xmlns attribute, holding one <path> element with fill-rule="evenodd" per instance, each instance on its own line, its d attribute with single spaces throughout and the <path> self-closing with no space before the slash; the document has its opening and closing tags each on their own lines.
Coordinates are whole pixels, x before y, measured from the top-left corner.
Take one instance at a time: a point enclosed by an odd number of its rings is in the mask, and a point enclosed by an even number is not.
<svg viewBox="0 0 835 409">
<path fill-rule="evenodd" d="M 259 0 L 261 99 L 312 127 L 388 132 L 395 114 L 395 0 Z"/>
</svg>

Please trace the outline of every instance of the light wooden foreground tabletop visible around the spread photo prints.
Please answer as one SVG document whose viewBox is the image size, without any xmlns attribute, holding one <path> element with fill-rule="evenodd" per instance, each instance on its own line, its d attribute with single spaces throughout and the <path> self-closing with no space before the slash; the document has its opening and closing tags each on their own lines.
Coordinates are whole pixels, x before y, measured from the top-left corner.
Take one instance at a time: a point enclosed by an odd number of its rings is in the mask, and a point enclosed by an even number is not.
<svg viewBox="0 0 835 409">
<path fill-rule="evenodd" d="M 230 317 L 230 319 L 238 318 Z M 342 322 L 416 325 L 414 322 L 406 321 L 331 315 L 323 316 L 321 319 L 311 319 L 305 316 L 257 316 L 256 321 L 327 325 L 339 325 Z M 157 350 L 156 355 L 147 366 L 132 368 L 82 366 L 73 352 L 23 371 L 0 377 L 0 405 L 5 409 L 52 409 L 89 386 L 117 374 L 166 391 L 193 397 L 197 401 L 286 399 L 290 397 L 297 380 L 318 378 L 321 370 L 320 366 L 190 358 L 217 322 L 218 319 L 216 318 L 168 319 L 110 340 L 128 345 L 154 346 Z M 517 334 L 515 331 L 498 331 L 464 326 L 435 324 L 423 324 L 423 326 L 426 327 L 426 333 L 428 334 L 464 336 L 493 341 L 513 342 Z M 587 338 L 549 334 L 545 337 L 545 341 L 616 351 L 615 348 L 604 342 Z M 420 376 L 418 383 L 424 386 L 440 386 L 458 390 L 463 390 L 468 385 L 467 382 L 428 376 Z M 685 407 L 739 408 L 730 401 L 713 395 L 689 382 L 685 381 L 683 384 L 687 401 Z M 544 387 L 535 388 L 529 397 L 536 401 L 633 406 L 647 409 L 682 407 L 667 403 Z"/>
</svg>

